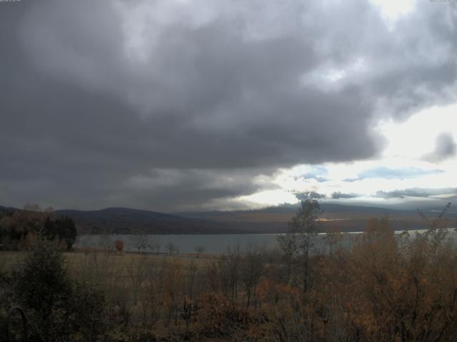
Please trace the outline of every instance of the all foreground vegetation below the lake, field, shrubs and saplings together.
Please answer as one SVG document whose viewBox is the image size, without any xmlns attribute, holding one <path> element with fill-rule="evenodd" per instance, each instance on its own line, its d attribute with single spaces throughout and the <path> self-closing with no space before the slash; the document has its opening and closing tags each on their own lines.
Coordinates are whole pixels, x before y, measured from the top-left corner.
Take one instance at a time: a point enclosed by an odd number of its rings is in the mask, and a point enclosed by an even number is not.
<svg viewBox="0 0 457 342">
<path fill-rule="evenodd" d="M 414 236 L 371 219 L 351 249 L 331 232 L 324 255 L 311 253 L 311 201 L 281 252 L 63 254 L 36 239 L 22 259 L 3 254 L 0 322 L 19 304 L 29 341 L 456 341 L 457 252 L 444 212 Z"/>
</svg>

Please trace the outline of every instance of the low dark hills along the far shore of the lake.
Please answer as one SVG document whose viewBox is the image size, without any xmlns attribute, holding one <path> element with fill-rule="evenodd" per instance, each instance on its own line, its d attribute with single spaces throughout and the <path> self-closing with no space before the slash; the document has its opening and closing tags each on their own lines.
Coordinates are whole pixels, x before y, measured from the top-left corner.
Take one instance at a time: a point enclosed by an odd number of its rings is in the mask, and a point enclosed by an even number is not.
<svg viewBox="0 0 457 342">
<path fill-rule="evenodd" d="M 395 210 L 379 207 L 363 207 L 342 204 L 321 204 L 324 210 L 323 229 L 338 228 L 343 232 L 357 232 L 365 229 L 370 217 L 388 215 L 393 229 L 420 229 L 425 222 L 414 210 Z M 179 212 L 164 214 L 147 210 L 122 207 L 101 210 L 56 210 L 59 216 L 74 219 L 79 234 L 248 234 L 281 233 L 288 229 L 288 221 L 296 214 L 298 204 L 286 204 L 258 210 Z M 442 209 L 442 208 L 440 208 Z M 426 209 L 431 219 L 440 209 Z M 18 210 L 0 207 L 0 217 Z M 448 213 L 450 226 L 457 226 L 457 214 Z"/>
</svg>

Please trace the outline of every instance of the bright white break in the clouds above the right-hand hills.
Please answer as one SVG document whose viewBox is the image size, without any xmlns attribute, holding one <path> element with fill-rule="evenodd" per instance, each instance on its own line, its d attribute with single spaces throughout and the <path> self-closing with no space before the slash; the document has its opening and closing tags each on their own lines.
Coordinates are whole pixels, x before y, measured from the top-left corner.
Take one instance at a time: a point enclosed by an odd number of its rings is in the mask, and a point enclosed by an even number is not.
<svg viewBox="0 0 457 342">
<path fill-rule="evenodd" d="M 380 158 L 355 162 L 296 165 L 279 170 L 271 182 L 278 190 L 258 192 L 236 200 L 251 207 L 296 203 L 294 194 L 316 192 L 326 200 L 371 205 L 430 203 L 433 199 L 456 194 L 430 197 L 382 198 L 382 194 L 411 189 L 457 188 L 457 156 L 448 155 L 430 160 L 426 156 L 436 151 L 439 137 L 446 134 L 457 141 L 457 103 L 428 108 L 404 122 L 390 120 L 379 123 L 376 130 L 387 140 Z M 457 146 L 457 145 L 456 145 Z M 439 157 L 439 156 L 438 156 Z M 345 197 L 332 198 L 333 194 Z M 380 195 L 381 194 L 381 195 Z"/>
</svg>

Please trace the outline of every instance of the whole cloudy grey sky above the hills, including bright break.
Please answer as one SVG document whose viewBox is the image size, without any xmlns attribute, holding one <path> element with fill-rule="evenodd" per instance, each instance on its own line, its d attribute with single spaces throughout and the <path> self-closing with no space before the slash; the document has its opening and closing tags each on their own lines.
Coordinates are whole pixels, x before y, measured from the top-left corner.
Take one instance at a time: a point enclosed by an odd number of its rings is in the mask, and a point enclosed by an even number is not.
<svg viewBox="0 0 457 342">
<path fill-rule="evenodd" d="M 457 199 L 457 3 L 0 2 L 0 205 Z"/>
</svg>

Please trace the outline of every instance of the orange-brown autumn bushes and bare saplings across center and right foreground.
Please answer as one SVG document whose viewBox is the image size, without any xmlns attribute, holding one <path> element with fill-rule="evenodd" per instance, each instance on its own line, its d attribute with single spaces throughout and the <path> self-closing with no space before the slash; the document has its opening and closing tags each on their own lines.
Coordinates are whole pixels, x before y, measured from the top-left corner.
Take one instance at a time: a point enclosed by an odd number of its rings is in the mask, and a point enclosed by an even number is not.
<svg viewBox="0 0 457 342">
<path fill-rule="evenodd" d="M 341 241 L 332 232 L 328 254 L 308 255 L 306 283 L 303 259 L 272 261 L 253 250 L 235 250 L 207 264 L 171 256 L 159 264 L 156 257 L 131 254 L 135 259 L 118 278 L 124 283 L 113 283 L 124 296 L 134 294 L 126 310 L 141 311 L 142 318 L 134 321 L 132 315 L 131 326 L 165 329 L 163 336 L 457 341 L 457 251 L 446 229 L 434 225 L 413 237 L 396 235 L 383 217 L 370 219 L 350 249 Z"/>
</svg>

